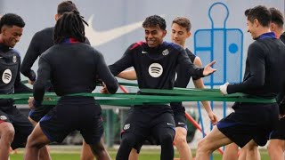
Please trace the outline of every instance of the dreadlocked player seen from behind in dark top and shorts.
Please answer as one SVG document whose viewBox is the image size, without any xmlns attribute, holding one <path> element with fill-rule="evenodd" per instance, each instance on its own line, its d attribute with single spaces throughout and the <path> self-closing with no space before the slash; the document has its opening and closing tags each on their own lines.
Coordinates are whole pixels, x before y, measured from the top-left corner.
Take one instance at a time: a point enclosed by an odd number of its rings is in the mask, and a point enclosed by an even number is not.
<svg viewBox="0 0 285 160">
<path fill-rule="evenodd" d="M 102 53 L 85 44 L 83 22 L 77 11 L 64 13 L 54 28 L 55 45 L 39 59 L 34 84 L 34 107 L 42 105 L 48 80 L 51 80 L 55 93 L 61 99 L 29 135 L 25 159 L 38 159 L 40 148 L 53 141 L 61 142 L 69 132 L 75 130 L 81 132 L 96 158 L 103 159 L 102 155 L 96 153 L 104 148 L 100 143 L 103 133 L 100 105 L 95 103 L 93 97 L 70 94 L 94 91 L 97 76 L 101 77 L 110 93 L 117 92 L 118 82 L 111 75 Z"/>
</svg>

